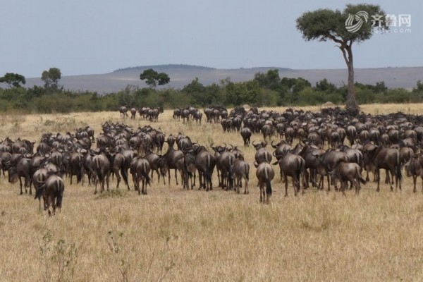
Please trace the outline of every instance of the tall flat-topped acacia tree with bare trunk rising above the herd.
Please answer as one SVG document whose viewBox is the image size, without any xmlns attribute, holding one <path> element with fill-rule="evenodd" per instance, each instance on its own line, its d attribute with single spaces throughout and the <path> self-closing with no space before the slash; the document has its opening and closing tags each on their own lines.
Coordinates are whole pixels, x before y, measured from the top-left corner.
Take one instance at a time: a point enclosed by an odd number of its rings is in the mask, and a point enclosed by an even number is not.
<svg viewBox="0 0 423 282">
<path fill-rule="evenodd" d="M 344 11 L 319 9 L 305 12 L 297 18 L 297 28 L 305 40 L 332 40 L 338 44 L 348 68 L 346 108 L 353 113 L 358 113 L 354 90 L 353 42 L 370 39 L 375 28 L 388 29 L 385 17 L 385 12 L 378 5 L 348 4 Z"/>
</svg>

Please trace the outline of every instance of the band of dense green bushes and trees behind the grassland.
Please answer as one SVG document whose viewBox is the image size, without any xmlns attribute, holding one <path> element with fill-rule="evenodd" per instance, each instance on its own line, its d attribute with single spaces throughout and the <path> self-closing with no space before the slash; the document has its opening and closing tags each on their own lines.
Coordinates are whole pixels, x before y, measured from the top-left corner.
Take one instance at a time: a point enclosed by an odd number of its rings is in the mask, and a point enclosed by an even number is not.
<svg viewBox="0 0 423 282">
<path fill-rule="evenodd" d="M 385 83 L 363 85 L 355 83 L 359 104 L 369 103 L 417 103 L 423 102 L 423 83 L 418 81 L 412 90 L 388 89 Z M 52 113 L 71 111 L 116 111 L 127 105 L 161 106 L 164 109 L 186 106 L 226 107 L 249 104 L 250 106 L 309 106 L 325 102 L 345 104 L 347 86 L 337 87 L 326 79 L 312 85 L 304 78 L 280 78 L 278 70 L 256 73 L 252 80 L 233 82 L 230 78 L 219 84 L 202 85 L 195 78 L 182 89 L 139 88 L 128 85 L 125 89 L 109 93 L 74 92 L 56 87 L 34 86 L 0 88 L 0 111 L 10 109 L 28 113 Z"/>
</svg>

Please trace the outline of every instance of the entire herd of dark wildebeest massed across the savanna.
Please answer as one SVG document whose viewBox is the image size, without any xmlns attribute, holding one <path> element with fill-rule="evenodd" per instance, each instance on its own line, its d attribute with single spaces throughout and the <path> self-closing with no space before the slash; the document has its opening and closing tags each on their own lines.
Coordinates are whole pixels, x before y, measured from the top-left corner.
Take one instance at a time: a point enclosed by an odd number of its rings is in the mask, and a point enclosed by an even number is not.
<svg viewBox="0 0 423 282">
<path fill-rule="evenodd" d="M 319 113 L 293 109 L 278 113 L 256 108 L 249 111 L 235 108 L 228 112 L 217 106 L 204 109 L 204 115 L 207 122 L 220 123 L 223 133 L 239 132 L 245 147 L 250 146 L 252 135 L 262 136 L 261 141 L 251 142 L 256 150 L 251 161 L 256 168 L 260 202 L 269 202 L 274 167 L 279 168 L 280 179 L 285 183 L 285 196 L 288 177 L 292 178 L 295 195 L 300 190 L 303 194 L 310 186 L 323 190 L 325 177 L 327 190 L 332 186 L 338 190 L 340 183 L 339 190 L 344 195 L 348 186 L 359 194 L 361 185 L 370 180 L 369 173 L 373 174 L 379 191 L 381 169 L 386 171 L 385 181 L 391 190 L 394 183 L 396 189 L 401 189 L 403 169 L 413 179 L 413 192 L 416 192 L 417 177 L 423 179 L 422 116 L 402 113 L 350 116 L 338 108 L 322 109 Z M 140 116 L 157 121 L 158 114 L 140 113 Z M 176 109 L 173 118 L 201 123 L 202 113 L 194 107 Z M 268 145 L 273 149 L 268 149 Z M 151 125 L 134 130 L 124 123 L 106 122 L 97 138 L 90 126 L 64 135 L 44 133 L 34 147 L 35 141 L 6 137 L 0 142 L 0 168 L 4 176 L 8 173 L 9 182 L 20 181 L 20 194 L 23 188 L 25 193 L 29 188 L 32 194 L 33 185 L 35 197 L 39 200 L 43 197 L 44 209 L 49 214 L 50 206 L 53 213 L 56 208 L 61 209 L 63 176 L 71 184 L 73 176 L 77 183 L 93 184 L 94 193 L 97 186 L 100 192 L 109 190 L 110 176 L 116 178 L 116 188 L 123 178 L 128 190 L 132 185 L 145 195 L 154 174 L 163 183 L 167 176 L 170 184 L 171 169 L 176 185 L 179 175 L 184 189 L 195 188 L 198 175 L 199 189 L 212 190 L 216 170 L 218 187 L 240 193 L 244 185 L 244 193 L 249 192 L 250 164 L 238 147 L 226 143 L 201 145 L 181 133 L 166 136 L 160 128 Z M 365 178 L 362 173 L 366 174 Z"/>
</svg>

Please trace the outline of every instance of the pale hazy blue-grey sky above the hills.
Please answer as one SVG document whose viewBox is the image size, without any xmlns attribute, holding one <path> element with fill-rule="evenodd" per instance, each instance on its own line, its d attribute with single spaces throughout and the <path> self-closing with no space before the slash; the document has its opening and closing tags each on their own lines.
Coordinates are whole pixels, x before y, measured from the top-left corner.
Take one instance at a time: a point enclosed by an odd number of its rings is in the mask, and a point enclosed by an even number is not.
<svg viewBox="0 0 423 282">
<path fill-rule="evenodd" d="M 345 68 L 333 42 L 306 42 L 295 19 L 317 8 L 363 1 L 1 0 L 0 76 L 109 73 L 183 63 L 213 68 Z M 423 2 L 372 1 L 410 15 L 411 33 L 353 45 L 355 68 L 423 66 Z M 393 27 L 399 28 L 399 27 Z"/>
</svg>

